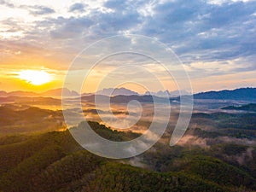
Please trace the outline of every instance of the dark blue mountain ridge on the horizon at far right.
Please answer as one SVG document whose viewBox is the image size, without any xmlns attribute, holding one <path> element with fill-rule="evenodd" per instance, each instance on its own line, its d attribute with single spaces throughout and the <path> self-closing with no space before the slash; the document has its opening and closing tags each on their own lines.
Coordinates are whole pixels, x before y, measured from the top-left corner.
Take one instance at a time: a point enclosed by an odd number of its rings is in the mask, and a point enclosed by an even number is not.
<svg viewBox="0 0 256 192">
<path fill-rule="evenodd" d="M 240 88 L 236 90 L 207 91 L 194 95 L 194 99 L 218 99 L 255 101 L 256 88 Z"/>
</svg>

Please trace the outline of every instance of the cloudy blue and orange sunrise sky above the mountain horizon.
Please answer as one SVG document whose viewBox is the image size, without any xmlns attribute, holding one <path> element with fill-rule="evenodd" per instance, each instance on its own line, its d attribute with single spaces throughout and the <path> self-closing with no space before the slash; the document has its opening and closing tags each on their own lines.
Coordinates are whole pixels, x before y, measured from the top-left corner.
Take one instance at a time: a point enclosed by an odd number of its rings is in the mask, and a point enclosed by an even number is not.
<svg viewBox="0 0 256 192">
<path fill-rule="evenodd" d="M 129 34 L 152 38 L 172 49 L 189 74 L 193 92 L 256 87 L 256 1 L 0 0 L 0 90 L 62 87 L 81 50 L 101 39 Z M 101 55 L 103 48 L 98 49 Z M 86 91 L 95 91 L 96 82 L 115 67 L 132 62 L 136 69 L 146 67 L 156 73 L 165 85 L 163 89 L 177 89 L 155 61 L 126 54 L 105 59 L 91 70 L 84 84 Z M 20 79 L 20 72 L 25 70 L 44 71 L 51 80 L 32 84 Z M 79 73 L 79 67 L 75 70 Z M 129 71 L 126 68 L 122 73 L 125 70 Z M 134 71 L 139 73 L 131 73 L 130 79 L 137 81 L 142 72 Z M 145 73 L 143 78 L 150 82 L 151 76 Z M 119 86 L 142 92 L 143 82 L 139 82 Z M 151 85 L 152 91 L 160 90 L 153 80 Z"/>
</svg>

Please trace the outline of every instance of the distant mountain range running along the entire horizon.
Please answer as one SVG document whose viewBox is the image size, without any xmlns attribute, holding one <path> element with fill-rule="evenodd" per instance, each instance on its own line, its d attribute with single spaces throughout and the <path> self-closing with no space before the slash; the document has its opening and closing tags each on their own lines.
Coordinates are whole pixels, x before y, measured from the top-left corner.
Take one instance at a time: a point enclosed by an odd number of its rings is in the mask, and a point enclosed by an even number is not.
<svg viewBox="0 0 256 192">
<path fill-rule="evenodd" d="M 67 88 L 64 88 L 64 95 L 67 97 L 79 97 L 79 93 L 74 90 L 68 90 Z M 38 97 L 38 96 L 45 96 L 45 97 L 61 97 L 62 89 L 55 89 L 55 90 L 48 90 L 42 93 L 35 93 L 35 92 L 29 92 L 29 91 L 12 91 L 12 92 L 6 92 L 6 91 L 0 91 L 0 97 L 8 97 L 8 96 L 20 96 L 20 97 Z M 126 88 L 108 88 L 103 90 L 98 90 L 96 94 L 94 93 L 83 93 L 81 96 L 86 100 L 93 100 L 92 97 L 94 95 L 97 96 L 118 96 L 115 99 L 120 100 L 130 100 L 131 96 L 135 96 L 139 100 L 148 101 L 147 96 L 155 96 L 155 97 L 162 97 L 162 96 L 170 96 L 172 99 L 178 99 L 179 94 L 181 96 L 189 95 L 189 92 L 185 90 L 181 90 L 180 93 L 175 91 L 168 91 L 168 90 L 160 90 L 158 92 L 145 92 L 145 94 L 140 95 L 136 91 L 128 90 Z M 85 96 L 85 97 L 84 97 Z M 129 98 L 125 98 L 125 96 Z M 143 98 L 144 96 L 144 98 Z M 219 91 L 207 91 L 207 92 L 201 92 L 196 93 L 193 95 L 194 99 L 211 99 L 211 100 L 241 100 L 241 101 L 251 101 L 256 102 L 256 88 L 240 88 L 236 90 L 219 90 Z M 118 99 L 117 99 L 118 98 Z M 133 97 L 132 97 L 133 98 Z M 114 100 L 115 100 L 114 99 Z M 151 97 L 152 99 L 152 97 Z M 149 100 L 151 100 L 149 99 Z"/>
</svg>

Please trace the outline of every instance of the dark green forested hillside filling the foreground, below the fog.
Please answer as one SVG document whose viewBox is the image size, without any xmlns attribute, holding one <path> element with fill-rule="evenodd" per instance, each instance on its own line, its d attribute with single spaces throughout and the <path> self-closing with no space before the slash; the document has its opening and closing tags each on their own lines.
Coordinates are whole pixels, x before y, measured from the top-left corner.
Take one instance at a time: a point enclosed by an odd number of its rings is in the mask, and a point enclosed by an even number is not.
<svg viewBox="0 0 256 192">
<path fill-rule="evenodd" d="M 96 122 L 90 125 L 99 135 L 114 141 L 135 137 Z M 148 165 L 146 170 L 127 165 L 130 160 L 108 160 L 90 154 L 73 140 L 69 131 L 0 137 L 0 143 L 0 191 L 4 192 L 255 189 L 255 178 L 251 175 L 198 148 L 188 151 L 158 144 L 157 153 L 151 150 L 140 157 Z M 160 166 L 169 171 L 154 171 Z"/>
</svg>

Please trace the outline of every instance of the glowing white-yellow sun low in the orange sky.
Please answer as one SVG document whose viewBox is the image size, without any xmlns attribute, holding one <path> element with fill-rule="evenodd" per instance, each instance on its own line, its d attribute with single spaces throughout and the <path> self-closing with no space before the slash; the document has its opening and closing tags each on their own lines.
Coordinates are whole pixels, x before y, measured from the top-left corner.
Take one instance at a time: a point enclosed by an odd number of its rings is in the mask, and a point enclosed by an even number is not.
<svg viewBox="0 0 256 192">
<path fill-rule="evenodd" d="M 49 73 L 43 70 L 22 70 L 18 73 L 18 78 L 25 80 L 29 84 L 41 85 L 49 83 L 52 78 Z"/>
</svg>

